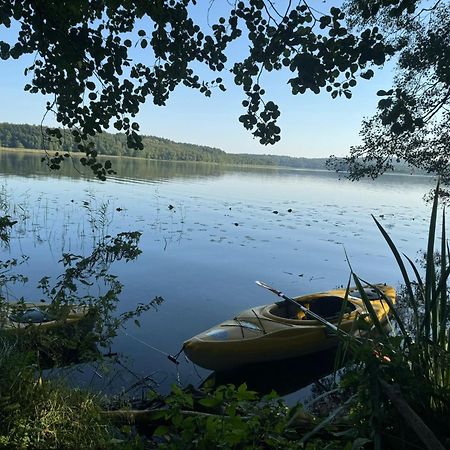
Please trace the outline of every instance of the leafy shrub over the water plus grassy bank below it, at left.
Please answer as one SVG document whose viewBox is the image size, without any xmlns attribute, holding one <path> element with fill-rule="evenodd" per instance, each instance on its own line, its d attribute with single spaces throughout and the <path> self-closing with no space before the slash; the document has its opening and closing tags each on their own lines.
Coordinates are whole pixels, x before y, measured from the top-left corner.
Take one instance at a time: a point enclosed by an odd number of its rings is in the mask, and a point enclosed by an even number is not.
<svg viewBox="0 0 450 450">
<path fill-rule="evenodd" d="M 2 241 L 8 242 L 14 223 L 9 216 L 3 219 L 0 236 L 3 232 Z M 116 261 L 137 258 L 139 238 L 138 232 L 106 235 L 88 256 L 63 254 L 64 272 L 56 281 L 43 277 L 38 286 L 48 300 L 45 311 L 57 322 L 47 330 L 32 324 L 21 329 L 8 326 L 8 308 L 17 312 L 28 306 L 23 299 L 11 305 L 3 293 L 9 285 L 28 280 L 14 273 L 17 260 L 0 261 L 0 448 L 112 448 L 111 437 L 118 431 L 101 416 L 98 397 L 46 380 L 42 370 L 71 363 L 75 354 L 78 360 L 98 357 L 97 345 L 106 345 L 126 320 L 162 301 L 157 298 L 134 311 L 114 314 L 122 284 L 109 269 Z M 92 286 L 99 287 L 95 295 L 89 291 Z M 74 307 L 88 312 L 69 323 Z"/>
</svg>

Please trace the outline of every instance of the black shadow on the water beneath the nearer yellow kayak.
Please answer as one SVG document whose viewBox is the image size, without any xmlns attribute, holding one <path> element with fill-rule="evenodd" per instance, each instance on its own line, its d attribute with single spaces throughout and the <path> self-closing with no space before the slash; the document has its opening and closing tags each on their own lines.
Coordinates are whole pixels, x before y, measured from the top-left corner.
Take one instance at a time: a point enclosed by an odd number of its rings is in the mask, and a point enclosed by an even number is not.
<svg viewBox="0 0 450 450">
<path fill-rule="evenodd" d="M 335 369 L 336 348 L 295 359 L 251 364 L 224 372 L 213 372 L 203 383 L 213 386 L 246 383 L 261 395 L 272 390 L 279 395 L 296 392 Z"/>
</svg>

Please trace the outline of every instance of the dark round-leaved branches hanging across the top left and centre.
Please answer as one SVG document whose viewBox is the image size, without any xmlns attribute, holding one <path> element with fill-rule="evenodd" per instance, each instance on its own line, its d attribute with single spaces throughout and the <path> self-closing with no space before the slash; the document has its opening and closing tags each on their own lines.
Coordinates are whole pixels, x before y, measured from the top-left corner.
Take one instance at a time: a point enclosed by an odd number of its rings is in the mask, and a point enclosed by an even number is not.
<svg viewBox="0 0 450 450">
<path fill-rule="evenodd" d="M 404 2 L 390 3 L 401 8 Z M 97 160 L 90 138 L 114 126 L 130 148 L 142 149 L 135 121 L 141 105 L 147 99 L 164 105 L 180 84 L 210 96 L 213 88 L 226 90 L 217 75 L 231 72 L 243 89 L 240 122 L 262 144 L 273 144 L 280 139 L 280 111 L 259 84 L 263 72 L 284 69 L 294 95 L 326 90 L 350 98 L 358 79 L 371 78 L 369 67 L 383 65 L 394 50 L 377 26 L 349 31 L 335 7 L 322 14 L 304 1 L 282 11 L 270 1 L 239 1 L 208 29 L 193 19 L 194 8 L 195 0 L 6 0 L 0 26 L 17 33 L 0 41 L 0 57 L 34 55 L 25 90 L 52 96 L 47 110 L 71 130 L 86 155 L 81 163 L 104 179 L 111 163 Z M 230 56 L 236 40 L 246 44 L 242 57 Z M 61 138 L 61 131 L 50 135 Z M 47 161 L 58 168 L 65 157 Z"/>
</svg>

